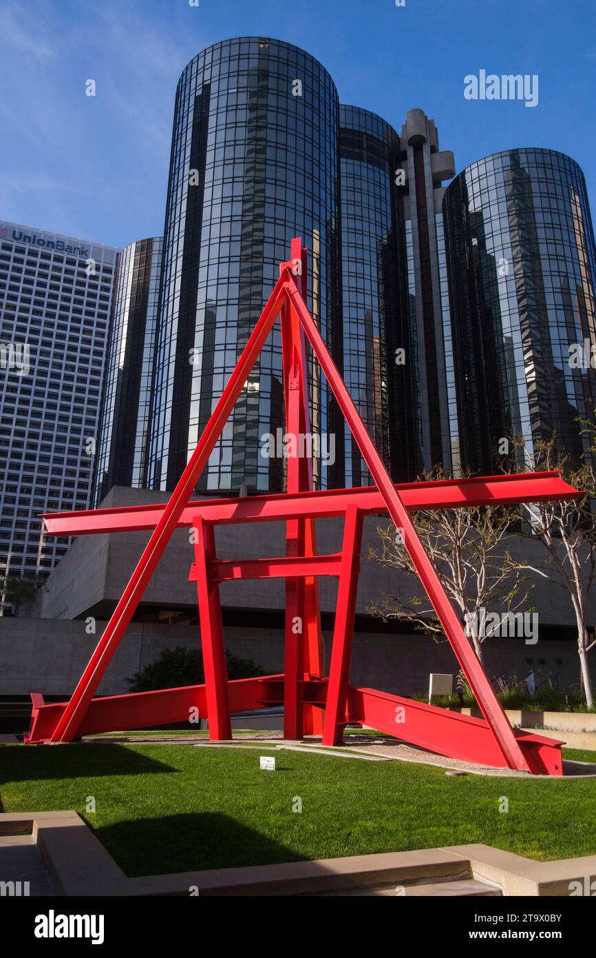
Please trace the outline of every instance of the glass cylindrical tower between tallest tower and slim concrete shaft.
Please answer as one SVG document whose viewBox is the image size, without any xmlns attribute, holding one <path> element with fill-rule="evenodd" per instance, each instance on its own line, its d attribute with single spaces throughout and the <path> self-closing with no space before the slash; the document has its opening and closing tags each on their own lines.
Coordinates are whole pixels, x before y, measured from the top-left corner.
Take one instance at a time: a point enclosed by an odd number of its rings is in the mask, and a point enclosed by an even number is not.
<svg viewBox="0 0 596 958">
<path fill-rule="evenodd" d="M 421 466 L 404 275 L 400 140 L 381 117 L 340 107 L 344 382 L 395 481 Z M 404 361 L 400 361 L 401 354 Z M 372 483 L 347 423 L 345 485 Z"/>
</svg>

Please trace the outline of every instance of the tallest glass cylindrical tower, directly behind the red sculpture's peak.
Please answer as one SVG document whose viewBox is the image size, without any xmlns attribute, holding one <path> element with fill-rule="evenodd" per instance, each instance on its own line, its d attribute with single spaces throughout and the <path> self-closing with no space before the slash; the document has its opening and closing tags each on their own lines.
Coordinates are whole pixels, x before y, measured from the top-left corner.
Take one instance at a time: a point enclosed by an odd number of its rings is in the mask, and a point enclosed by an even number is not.
<svg viewBox="0 0 596 958">
<path fill-rule="evenodd" d="M 166 203 L 149 488 L 170 490 L 180 477 L 295 236 L 309 249 L 308 307 L 333 346 L 341 323 L 338 122 L 333 80 L 291 44 L 228 40 L 184 70 Z M 310 386 L 313 432 L 326 433 L 328 397 L 315 365 Z M 251 492 L 282 490 L 285 461 L 262 450 L 263 437 L 283 423 L 277 324 L 198 490 L 230 495 L 242 483 Z M 313 465 L 316 484 L 332 484 L 331 463 Z"/>
</svg>

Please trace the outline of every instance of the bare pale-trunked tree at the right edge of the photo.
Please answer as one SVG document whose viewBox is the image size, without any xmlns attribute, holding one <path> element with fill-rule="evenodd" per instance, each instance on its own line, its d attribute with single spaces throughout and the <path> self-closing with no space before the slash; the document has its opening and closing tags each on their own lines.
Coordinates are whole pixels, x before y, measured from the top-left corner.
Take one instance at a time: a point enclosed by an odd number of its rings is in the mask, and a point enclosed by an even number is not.
<svg viewBox="0 0 596 958">
<path fill-rule="evenodd" d="M 590 453 L 579 467 L 573 468 L 569 457 L 558 451 L 555 437 L 534 442 L 530 449 L 522 436 L 514 437 L 513 444 L 518 455 L 514 467 L 529 472 L 542 469 L 557 469 L 563 479 L 585 496 L 563 502 L 523 503 L 520 508 L 527 519 L 521 535 L 539 539 L 548 552 L 543 564 L 527 560 L 514 561 L 512 568 L 518 572 L 533 572 L 541 579 L 553 582 L 569 596 L 577 627 L 578 654 L 585 702 L 594 706 L 592 679 L 587 653 L 596 646 L 588 632 L 588 600 L 596 576 L 596 423 L 584 422 L 584 435 L 589 437 Z M 521 466 L 520 466 L 521 464 Z"/>
</svg>

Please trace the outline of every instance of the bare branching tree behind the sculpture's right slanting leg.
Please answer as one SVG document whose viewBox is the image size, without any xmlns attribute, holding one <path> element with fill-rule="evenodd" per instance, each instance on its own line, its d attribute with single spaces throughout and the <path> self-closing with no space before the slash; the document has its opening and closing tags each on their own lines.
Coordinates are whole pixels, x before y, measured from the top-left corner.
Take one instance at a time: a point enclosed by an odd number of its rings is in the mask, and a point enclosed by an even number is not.
<svg viewBox="0 0 596 958">
<path fill-rule="evenodd" d="M 435 469 L 425 478 L 442 479 L 446 476 Z M 508 612 L 515 612 L 526 602 L 533 587 L 527 576 L 521 576 L 513 568 L 505 548 L 512 524 L 519 522 L 519 515 L 504 507 L 483 506 L 423 510 L 412 513 L 412 521 L 447 594 L 460 612 L 475 653 L 482 661 L 482 645 L 498 628 L 478 629 L 474 626 L 482 621 L 483 610 L 498 603 Z M 414 564 L 395 526 L 378 527 L 377 532 L 381 545 L 378 549 L 370 547 L 369 558 L 386 567 L 401 569 L 417 579 Z M 408 600 L 384 593 L 368 606 L 367 611 L 385 622 L 412 622 L 417 631 L 432 635 L 437 641 L 445 639 L 443 627 L 426 593 L 413 595 Z"/>
</svg>

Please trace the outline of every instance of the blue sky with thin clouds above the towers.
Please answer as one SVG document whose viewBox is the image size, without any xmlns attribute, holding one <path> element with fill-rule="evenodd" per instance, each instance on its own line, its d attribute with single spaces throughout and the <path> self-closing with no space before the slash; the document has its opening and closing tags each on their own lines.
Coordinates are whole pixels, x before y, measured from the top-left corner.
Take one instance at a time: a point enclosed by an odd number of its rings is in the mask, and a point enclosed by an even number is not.
<svg viewBox="0 0 596 958">
<path fill-rule="evenodd" d="M 457 171 L 560 149 L 596 202 L 594 0 L 0 0 L 0 219 L 117 246 L 161 234 L 178 77 L 245 34 L 303 47 L 398 131 L 422 107 Z M 538 74 L 538 105 L 466 101 L 480 69 Z"/>
</svg>

